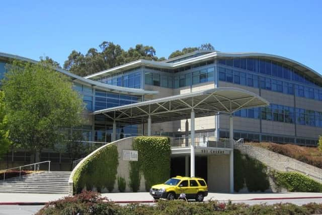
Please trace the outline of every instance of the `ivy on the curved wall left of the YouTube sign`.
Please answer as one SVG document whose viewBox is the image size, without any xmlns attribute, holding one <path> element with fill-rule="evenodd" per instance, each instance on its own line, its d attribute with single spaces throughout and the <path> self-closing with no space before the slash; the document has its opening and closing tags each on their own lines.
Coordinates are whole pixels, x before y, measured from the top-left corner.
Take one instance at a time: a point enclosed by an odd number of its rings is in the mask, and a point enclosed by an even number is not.
<svg viewBox="0 0 322 215">
<path fill-rule="evenodd" d="M 112 192 L 118 164 L 117 147 L 115 145 L 105 146 L 76 170 L 73 177 L 74 191 L 79 193 L 86 186 L 87 190 L 96 187 L 99 192 L 103 188 Z"/>
</svg>

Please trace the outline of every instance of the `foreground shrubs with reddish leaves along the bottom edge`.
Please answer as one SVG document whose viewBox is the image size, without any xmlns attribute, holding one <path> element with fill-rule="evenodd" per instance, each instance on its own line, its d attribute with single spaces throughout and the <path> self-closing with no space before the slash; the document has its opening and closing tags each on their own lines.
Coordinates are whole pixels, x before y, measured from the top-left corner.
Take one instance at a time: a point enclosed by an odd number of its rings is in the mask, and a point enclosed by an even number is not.
<svg viewBox="0 0 322 215">
<path fill-rule="evenodd" d="M 130 203 L 119 205 L 102 198 L 98 193 L 85 192 L 75 196 L 68 196 L 62 199 L 47 203 L 36 213 L 37 215 L 47 214 L 320 214 L 322 204 L 309 203 L 297 206 L 290 203 L 277 203 L 272 205 L 245 203 L 228 203 L 210 200 L 205 202 L 186 202 L 158 200 L 153 205 Z"/>
</svg>

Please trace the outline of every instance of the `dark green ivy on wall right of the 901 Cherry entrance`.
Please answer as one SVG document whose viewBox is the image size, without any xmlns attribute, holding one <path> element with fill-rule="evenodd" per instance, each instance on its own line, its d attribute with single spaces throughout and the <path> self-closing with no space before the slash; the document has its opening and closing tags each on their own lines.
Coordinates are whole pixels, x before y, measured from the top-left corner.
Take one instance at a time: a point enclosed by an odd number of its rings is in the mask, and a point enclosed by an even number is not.
<svg viewBox="0 0 322 215">
<path fill-rule="evenodd" d="M 244 187 L 244 182 L 249 191 L 264 192 L 269 188 L 267 167 L 260 161 L 242 155 L 239 150 L 234 150 L 234 190 L 238 192 Z"/>
</svg>

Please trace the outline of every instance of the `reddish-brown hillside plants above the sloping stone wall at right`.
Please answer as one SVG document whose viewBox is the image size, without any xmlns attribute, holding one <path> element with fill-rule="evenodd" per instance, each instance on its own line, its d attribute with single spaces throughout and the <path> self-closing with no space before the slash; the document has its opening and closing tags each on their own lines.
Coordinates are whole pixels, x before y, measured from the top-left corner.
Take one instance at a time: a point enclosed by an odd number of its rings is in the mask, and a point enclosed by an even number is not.
<svg viewBox="0 0 322 215">
<path fill-rule="evenodd" d="M 248 142 L 246 144 L 262 147 L 303 163 L 322 168 L 322 152 L 315 147 L 303 147 L 292 144 L 274 144 L 273 142 Z"/>
</svg>

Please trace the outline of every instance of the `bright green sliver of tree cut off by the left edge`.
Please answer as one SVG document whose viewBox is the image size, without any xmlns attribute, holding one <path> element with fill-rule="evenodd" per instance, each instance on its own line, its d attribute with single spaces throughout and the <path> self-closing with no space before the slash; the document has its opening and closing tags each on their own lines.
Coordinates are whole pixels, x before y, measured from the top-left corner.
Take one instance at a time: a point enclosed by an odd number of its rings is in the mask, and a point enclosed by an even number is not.
<svg viewBox="0 0 322 215">
<path fill-rule="evenodd" d="M 6 153 L 11 145 L 9 140 L 8 117 L 4 104 L 5 94 L 0 91 L 0 156 Z"/>
</svg>

